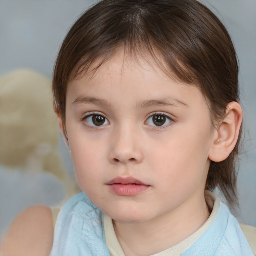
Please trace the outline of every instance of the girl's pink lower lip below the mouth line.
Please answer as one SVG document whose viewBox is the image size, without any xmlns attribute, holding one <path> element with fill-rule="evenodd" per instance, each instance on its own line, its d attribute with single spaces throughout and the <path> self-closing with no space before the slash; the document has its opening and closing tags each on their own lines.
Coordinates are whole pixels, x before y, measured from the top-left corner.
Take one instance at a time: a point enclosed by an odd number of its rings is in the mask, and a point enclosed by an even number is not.
<svg viewBox="0 0 256 256">
<path fill-rule="evenodd" d="M 147 185 L 140 184 L 111 184 L 108 186 L 115 194 L 121 196 L 133 196 L 149 188 Z"/>
</svg>

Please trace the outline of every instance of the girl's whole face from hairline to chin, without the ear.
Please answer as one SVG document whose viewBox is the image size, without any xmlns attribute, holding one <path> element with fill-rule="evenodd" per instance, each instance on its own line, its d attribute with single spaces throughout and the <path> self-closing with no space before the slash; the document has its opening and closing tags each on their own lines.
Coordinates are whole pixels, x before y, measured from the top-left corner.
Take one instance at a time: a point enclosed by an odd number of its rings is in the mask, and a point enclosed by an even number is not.
<svg viewBox="0 0 256 256">
<path fill-rule="evenodd" d="M 78 183 L 107 215 L 144 222 L 205 203 L 214 128 L 195 86 L 117 54 L 66 97 Z"/>
</svg>

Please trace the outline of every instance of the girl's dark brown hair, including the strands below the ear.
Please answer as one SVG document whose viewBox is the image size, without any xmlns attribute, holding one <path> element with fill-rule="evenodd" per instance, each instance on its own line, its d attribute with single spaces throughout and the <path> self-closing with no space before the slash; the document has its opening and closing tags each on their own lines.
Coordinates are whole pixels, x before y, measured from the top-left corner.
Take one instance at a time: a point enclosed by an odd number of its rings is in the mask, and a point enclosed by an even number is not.
<svg viewBox="0 0 256 256">
<path fill-rule="evenodd" d="M 120 47 L 135 59 L 153 62 L 172 78 L 197 86 L 208 102 L 215 126 L 227 104 L 239 101 L 233 43 L 207 7 L 196 0 L 103 0 L 76 21 L 56 60 L 54 107 L 64 127 L 68 81 L 91 70 L 92 64 L 96 70 Z M 226 160 L 211 162 L 206 182 L 206 189 L 218 186 L 230 206 L 237 204 L 235 158 L 239 141 L 240 135 Z"/>
</svg>

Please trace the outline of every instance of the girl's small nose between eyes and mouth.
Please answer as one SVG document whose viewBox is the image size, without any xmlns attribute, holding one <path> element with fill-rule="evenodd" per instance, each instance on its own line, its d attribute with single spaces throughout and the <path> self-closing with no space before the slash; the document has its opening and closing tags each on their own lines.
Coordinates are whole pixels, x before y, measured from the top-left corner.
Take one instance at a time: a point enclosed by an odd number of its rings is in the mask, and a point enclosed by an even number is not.
<svg viewBox="0 0 256 256">
<path fill-rule="evenodd" d="M 141 136 L 134 128 L 113 130 L 110 141 L 109 161 L 113 164 L 140 163 L 143 160 Z"/>
</svg>

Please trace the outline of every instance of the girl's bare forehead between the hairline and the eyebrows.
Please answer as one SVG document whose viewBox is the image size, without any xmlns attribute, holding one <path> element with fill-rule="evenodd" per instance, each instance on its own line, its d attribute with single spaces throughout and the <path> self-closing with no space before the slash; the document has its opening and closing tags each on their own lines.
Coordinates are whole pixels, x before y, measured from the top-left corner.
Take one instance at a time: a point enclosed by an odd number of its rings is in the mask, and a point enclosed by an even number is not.
<svg viewBox="0 0 256 256">
<path fill-rule="evenodd" d="M 175 98 L 177 102 L 189 102 L 192 95 L 203 98 L 196 86 L 173 78 L 175 75 L 171 71 L 166 74 L 155 61 L 149 61 L 150 58 L 134 58 L 118 51 L 100 67 L 95 69 L 98 66 L 95 62 L 87 72 L 81 72 L 71 80 L 67 96 L 72 95 L 76 100 L 85 95 L 97 95 L 108 97 L 112 104 L 120 97 L 127 101 L 128 94 L 133 94 L 131 99 L 141 102 L 166 97 Z M 98 61 L 100 63 L 101 60 Z"/>
</svg>

